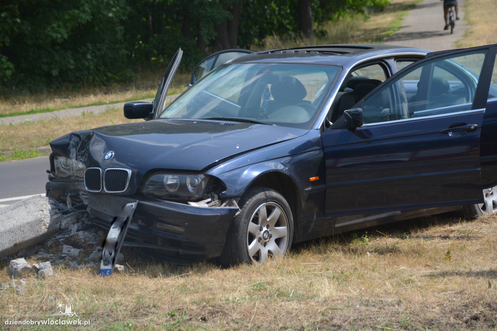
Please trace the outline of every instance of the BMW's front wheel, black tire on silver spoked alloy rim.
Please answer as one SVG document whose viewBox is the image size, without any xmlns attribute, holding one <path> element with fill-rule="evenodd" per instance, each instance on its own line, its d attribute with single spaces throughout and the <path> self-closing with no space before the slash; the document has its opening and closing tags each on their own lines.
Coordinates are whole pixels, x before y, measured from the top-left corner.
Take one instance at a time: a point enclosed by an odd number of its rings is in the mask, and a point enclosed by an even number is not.
<svg viewBox="0 0 497 331">
<path fill-rule="evenodd" d="M 221 256 L 223 267 L 240 263 L 264 263 L 269 256 L 282 256 L 292 246 L 293 216 L 285 198 L 265 188 L 249 189 L 239 202 Z"/>
</svg>

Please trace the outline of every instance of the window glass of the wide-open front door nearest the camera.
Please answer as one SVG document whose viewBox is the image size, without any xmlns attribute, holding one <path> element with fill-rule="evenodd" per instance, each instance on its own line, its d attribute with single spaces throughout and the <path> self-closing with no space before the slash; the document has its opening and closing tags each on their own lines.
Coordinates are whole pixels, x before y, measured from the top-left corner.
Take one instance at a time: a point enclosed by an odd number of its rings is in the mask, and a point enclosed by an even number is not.
<svg viewBox="0 0 497 331">
<path fill-rule="evenodd" d="M 427 61 L 364 100 L 364 123 L 471 109 L 486 50 Z"/>
</svg>

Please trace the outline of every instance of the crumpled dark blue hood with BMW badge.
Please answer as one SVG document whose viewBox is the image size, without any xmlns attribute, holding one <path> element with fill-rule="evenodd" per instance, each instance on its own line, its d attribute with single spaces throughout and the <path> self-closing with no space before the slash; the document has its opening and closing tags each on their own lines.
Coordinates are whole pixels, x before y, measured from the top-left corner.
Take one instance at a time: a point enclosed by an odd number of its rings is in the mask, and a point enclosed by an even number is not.
<svg viewBox="0 0 497 331">
<path fill-rule="evenodd" d="M 50 143 L 52 151 L 87 167 L 201 171 L 250 150 L 293 139 L 307 130 L 238 122 L 167 119 L 77 131 Z M 104 162 L 109 151 L 114 157 Z"/>
</svg>

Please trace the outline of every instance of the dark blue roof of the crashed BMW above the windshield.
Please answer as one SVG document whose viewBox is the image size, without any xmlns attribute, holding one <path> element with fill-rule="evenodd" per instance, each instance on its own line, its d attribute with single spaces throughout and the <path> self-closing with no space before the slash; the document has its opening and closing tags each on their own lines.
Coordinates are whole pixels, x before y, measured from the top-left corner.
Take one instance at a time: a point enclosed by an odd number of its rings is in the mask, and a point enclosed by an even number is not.
<svg viewBox="0 0 497 331">
<path fill-rule="evenodd" d="M 424 56 L 429 52 L 384 44 L 319 45 L 262 51 L 242 56 L 231 63 L 308 63 L 348 67 L 374 58 Z"/>
</svg>

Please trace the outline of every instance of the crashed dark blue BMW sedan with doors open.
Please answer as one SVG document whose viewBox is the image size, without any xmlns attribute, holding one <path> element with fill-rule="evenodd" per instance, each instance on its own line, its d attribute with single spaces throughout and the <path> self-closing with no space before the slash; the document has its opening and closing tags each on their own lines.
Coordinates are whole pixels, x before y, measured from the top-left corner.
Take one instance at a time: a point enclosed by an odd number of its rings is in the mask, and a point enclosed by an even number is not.
<svg viewBox="0 0 497 331">
<path fill-rule="evenodd" d="M 143 122 L 51 142 L 47 196 L 122 245 L 170 260 L 257 262 L 293 243 L 422 215 L 497 208 L 497 46 L 430 53 L 327 45 L 243 55 Z"/>
</svg>

